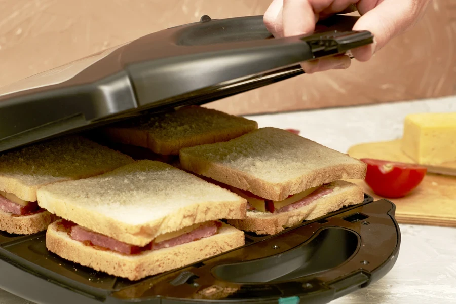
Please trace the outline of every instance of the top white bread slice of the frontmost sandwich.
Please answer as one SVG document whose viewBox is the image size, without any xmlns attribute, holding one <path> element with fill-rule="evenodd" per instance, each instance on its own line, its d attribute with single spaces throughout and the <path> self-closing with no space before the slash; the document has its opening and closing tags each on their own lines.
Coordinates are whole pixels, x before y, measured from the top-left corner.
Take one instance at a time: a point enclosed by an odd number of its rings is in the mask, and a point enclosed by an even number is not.
<svg viewBox="0 0 456 304">
<path fill-rule="evenodd" d="M 137 246 L 195 223 L 244 218 L 247 205 L 226 189 L 149 160 L 47 185 L 37 193 L 38 204 L 49 212 Z"/>
</svg>

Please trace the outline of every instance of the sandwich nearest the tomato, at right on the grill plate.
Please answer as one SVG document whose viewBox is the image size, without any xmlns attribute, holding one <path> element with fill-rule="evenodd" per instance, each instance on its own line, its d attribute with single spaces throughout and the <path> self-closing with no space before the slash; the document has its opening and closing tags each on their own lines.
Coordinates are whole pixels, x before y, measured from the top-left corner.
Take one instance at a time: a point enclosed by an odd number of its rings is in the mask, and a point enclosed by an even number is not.
<svg viewBox="0 0 456 304">
<path fill-rule="evenodd" d="M 182 169 L 245 198 L 246 218 L 228 222 L 260 235 L 364 200 L 363 189 L 344 179 L 364 179 L 365 163 L 286 130 L 260 128 L 179 156 Z"/>
</svg>

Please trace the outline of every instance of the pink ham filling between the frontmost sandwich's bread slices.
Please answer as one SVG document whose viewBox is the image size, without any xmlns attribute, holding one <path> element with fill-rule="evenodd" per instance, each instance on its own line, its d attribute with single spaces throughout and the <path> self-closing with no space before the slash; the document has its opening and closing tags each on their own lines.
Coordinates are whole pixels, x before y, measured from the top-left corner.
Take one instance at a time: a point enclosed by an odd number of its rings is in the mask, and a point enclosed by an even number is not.
<svg viewBox="0 0 456 304">
<path fill-rule="evenodd" d="M 66 226 L 70 225 L 67 224 Z M 138 254 L 145 250 L 159 250 L 162 248 L 170 248 L 213 236 L 217 233 L 219 226 L 220 223 L 215 221 L 202 223 L 197 229 L 191 232 L 182 234 L 178 237 L 160 243 L 151 242 L 144 247 L 130 245 L 108 236 L 87 230 L 84 227 L 75 224 L 71 226 L 70 237 L 73 240 L 86 243 L 87 245 L 98 246 L 123 254 Z"/>
</svg>

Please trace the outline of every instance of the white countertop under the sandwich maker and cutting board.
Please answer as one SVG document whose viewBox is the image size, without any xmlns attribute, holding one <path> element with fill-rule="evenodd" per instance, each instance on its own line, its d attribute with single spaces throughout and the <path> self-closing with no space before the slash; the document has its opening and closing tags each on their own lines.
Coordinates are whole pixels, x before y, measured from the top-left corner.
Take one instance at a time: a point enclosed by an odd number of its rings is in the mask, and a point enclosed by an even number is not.
<svg viewBox="0 0 456 304">
<path fill-rule="evenodd" d="M 357 143 L 399 138 L 408 113 L 447 111 L 456 112 L 456 96 L 249 118 L 260 127 L 298 129 L 302 136 L 346 153 Z M 400 229 L 401 248 L 394 268 L 378 282 L 332 303 L 456 303 L 456 229 L 405 224 Z M 27 303 L 0 290 L 0 304 Z"/>
</svg>

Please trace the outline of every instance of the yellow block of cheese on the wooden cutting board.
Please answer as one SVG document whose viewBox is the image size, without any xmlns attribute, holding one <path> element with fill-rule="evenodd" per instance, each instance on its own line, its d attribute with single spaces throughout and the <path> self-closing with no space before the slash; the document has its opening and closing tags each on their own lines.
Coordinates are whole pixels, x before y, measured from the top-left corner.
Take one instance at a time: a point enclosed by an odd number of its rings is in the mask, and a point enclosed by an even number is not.
<svg viewBox="0 0 456 304">
<path fill-rule="evenodd" d="M 401 149 L 419 164 L 456 162 L 456 112 L 408 115 Z"/>
</svg>

